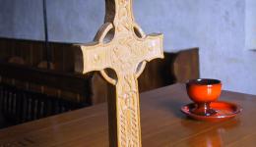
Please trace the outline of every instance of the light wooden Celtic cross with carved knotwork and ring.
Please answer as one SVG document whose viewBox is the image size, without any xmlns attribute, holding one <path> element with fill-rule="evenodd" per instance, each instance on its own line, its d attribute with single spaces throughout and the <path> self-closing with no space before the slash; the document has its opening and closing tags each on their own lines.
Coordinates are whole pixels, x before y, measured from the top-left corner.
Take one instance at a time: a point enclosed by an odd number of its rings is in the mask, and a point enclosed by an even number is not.
<svg viewBox="0 0 256 147">
<path fill-rule="evenodd" d="M 115 123 L 109 123 L 111 147 L 140 147 L 141 124 L 138 76 L 146 62 L 163 58 L 162 35 L 145 35 L 132 13 L 132 0 L 106 0 L 105 24 L 98 30 L 95 42 L 83 45 L 83 73 L 99 71 L 115 86 L 115 112 L 108 114 Z M 110 41 L 104 42 L 112 35 Z M 105 69 L 112 69 L 116 77 Z M 113 103 L 109 101 L 108 103 Z M 112 106 L 113 106 L 112 105 Z M 108 108 L 109 109 L 109 108 Z M 111 108 L 110 108 L 111 109 Z M 114 116 L 114 117 L 111 117 Z M 112 126 L 114 125 L 114 126 Z"/>
</svg>

